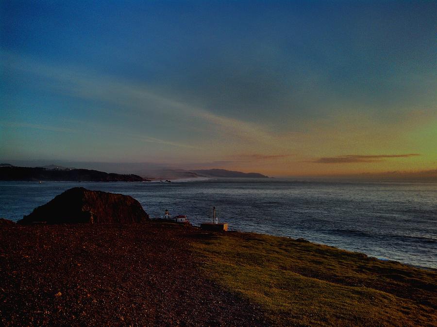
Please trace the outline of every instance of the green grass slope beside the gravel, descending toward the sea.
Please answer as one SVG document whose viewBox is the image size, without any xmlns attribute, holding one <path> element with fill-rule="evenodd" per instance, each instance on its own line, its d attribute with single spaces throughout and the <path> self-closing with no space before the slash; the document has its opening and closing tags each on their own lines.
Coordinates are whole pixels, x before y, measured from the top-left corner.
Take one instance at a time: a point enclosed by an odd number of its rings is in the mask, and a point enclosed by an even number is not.
<svg viewBox="0 0 437 327">
<path fill-rule="evenodd" d="M 275 325 L 434 326 L 435 271 L 285 237 L 210 234 L 203 271 L 260 304 Z"/>
</svg>

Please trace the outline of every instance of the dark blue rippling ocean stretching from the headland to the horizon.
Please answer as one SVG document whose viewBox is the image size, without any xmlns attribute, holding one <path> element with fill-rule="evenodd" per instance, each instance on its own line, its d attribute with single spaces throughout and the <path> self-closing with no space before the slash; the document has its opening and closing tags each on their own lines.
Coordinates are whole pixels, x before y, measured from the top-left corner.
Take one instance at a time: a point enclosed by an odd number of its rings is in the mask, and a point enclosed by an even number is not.
<svg viewBox="0 0 437 327">
<path fill-rule="evenodd" d="M 71 187 L 131 195 L 151 217 L 187 215 L 230 230 L 305 238 L 383 260 L 437 268 L 437 183 L 203 179 L 172 183 L 1 182 L 0 217 L 14 221 Z"/>
</svg>

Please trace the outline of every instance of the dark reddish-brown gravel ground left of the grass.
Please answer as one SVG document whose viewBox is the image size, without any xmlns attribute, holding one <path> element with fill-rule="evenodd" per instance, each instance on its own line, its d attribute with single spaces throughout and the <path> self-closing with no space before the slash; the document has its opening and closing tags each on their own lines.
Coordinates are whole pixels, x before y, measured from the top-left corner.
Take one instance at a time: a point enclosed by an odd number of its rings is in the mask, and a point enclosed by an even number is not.
<svg viewBox="0 0 437 327">
<path fill-rule="evenodd" d="M 199 272 L 174 224 L 0 222 L 0 316 L 8 326 L 262 326 L 259 307 Z"/>
</svg>

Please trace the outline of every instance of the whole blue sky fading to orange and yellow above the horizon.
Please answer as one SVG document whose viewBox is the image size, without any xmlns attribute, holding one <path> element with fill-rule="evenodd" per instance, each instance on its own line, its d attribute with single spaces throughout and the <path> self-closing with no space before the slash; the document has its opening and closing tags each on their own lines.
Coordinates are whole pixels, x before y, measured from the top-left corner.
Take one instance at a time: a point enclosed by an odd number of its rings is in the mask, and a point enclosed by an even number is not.
<svg viewBox="0 0 437 327">
<path fill-rule="evenodd" d="M 0 1 L 0 160 L 437 169 L 437 1 Z"/>
</svg>

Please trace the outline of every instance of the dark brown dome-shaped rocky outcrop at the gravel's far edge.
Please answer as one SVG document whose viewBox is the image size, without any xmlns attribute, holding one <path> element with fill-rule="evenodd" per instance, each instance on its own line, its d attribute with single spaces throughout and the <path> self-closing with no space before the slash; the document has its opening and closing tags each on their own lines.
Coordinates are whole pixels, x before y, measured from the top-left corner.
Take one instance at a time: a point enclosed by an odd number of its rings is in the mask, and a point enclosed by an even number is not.
<svg viewBox="0 0 437 327">
<path fill-rule="evenodd" d="M 130 196 L 74 187 L 35 208 L 18 223 L 133 223 L 148 219 L 141 204 Z"/>
</svg>

